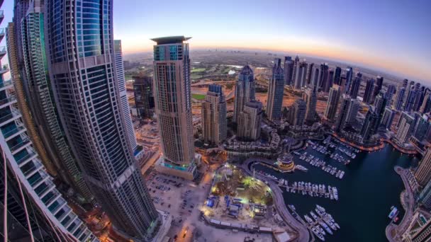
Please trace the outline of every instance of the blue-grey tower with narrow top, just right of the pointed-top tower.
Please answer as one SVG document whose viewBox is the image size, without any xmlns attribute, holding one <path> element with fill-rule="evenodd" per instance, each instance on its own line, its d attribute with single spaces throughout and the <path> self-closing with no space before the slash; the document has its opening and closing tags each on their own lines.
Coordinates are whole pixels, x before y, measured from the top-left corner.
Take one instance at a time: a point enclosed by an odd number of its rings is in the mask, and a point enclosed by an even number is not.
<svg viewBox="0 0 431 242">
<path fill-rule="evenodd" d="M 283 105 L 284 76 L 281 68 L 281 59 L 274 60 L 272 67 L 272 77 L 269 80 L 267 98 L 267 116 L 269 120 L 279 120 L 281 118 L 281 106 Z"/>
</svg>

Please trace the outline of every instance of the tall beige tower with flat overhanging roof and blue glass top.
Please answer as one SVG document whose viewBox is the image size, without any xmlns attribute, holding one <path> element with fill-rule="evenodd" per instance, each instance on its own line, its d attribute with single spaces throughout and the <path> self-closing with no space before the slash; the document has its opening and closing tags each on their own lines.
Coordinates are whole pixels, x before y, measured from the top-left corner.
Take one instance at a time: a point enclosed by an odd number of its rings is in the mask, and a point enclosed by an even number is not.
<svg viewBox="0 0 431 242">
<path fill-rule="evenodd" d="M 193 180 L 200 157 L 194 153 L 189 44 L 184 42 L 189 39 L 172 36 L 152 40 L 157 42 L 154 46 L 154 93 L 163 154 L 156 168 Z M 244 69 L 240 79 L 242 75 L 245 75 Z"/>
</svg>

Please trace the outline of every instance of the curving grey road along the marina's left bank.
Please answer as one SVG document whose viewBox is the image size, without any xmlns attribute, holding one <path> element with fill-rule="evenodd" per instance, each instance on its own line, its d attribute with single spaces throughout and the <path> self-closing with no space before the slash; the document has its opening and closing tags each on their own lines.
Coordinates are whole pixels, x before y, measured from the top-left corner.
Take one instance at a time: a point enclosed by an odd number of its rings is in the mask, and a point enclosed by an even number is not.
<svg viewBox="0 0 431 242">
<path fill-rule="evenodd" d="M 265 163 L 267 162 L 266 159 L 262 159 L 258 157 L 247 159 L 246 161 L 244 161 L 244 163 L 242 163 L 242 166 L 241 166 L 241 168 L 245 171 L 245 173 L 247 173 L 247 175 L 250 175 L 250 176 L 253 175 L 253 172 L 250 171 L 249 165 L 254 161 L 262 161 Z M 312 237 L 310 238 L 310 233 L 307 227 L 301 224 L 301 222 L 299 222 L 298 220 L 296 220 L 287 209 L 286 204 L 284 203 L 284 197 L 282 195 L 282 191 L 279 188 L 279 186 L 274 182 L 274 180 L 267 178 L 264 175 L 261 175 L 259 173 L 255 173 L 255 176 L 256 176 L 255 178 L 267 183 L 269 188 L 271 188 L 276 211 L 279 212 L 281 218 L 286 222 L 286 224 L 293 231 L 296 231 L 298 233 L 298 236 L 294 241 L 300 241 L 300 242 L 314 241 L 315 239 L 313 234 L 311 234 Z"/>
</svg>

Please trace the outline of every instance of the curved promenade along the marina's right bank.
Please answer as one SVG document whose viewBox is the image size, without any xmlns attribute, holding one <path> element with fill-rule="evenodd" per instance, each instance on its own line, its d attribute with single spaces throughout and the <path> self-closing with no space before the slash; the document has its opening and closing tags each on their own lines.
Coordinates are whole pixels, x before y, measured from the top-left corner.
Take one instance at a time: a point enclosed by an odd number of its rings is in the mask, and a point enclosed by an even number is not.
<svg viewBox="0 0 431 242">
<path fill-rule="evenodd" d="M 401 241 L 401 236 L 405 232 L 405 229 L 408 228 L 408 225 L 410 224 L 413 217 L 413 207 L 415 205 L 413 191 L 411 190 L 407 179 L 408 170 L 401 168 L 400 166 L 396 166 L 394 170 L 396 171 L 396 173 L 398 173 L 398 175 L 401 176 L 401 179 L 404 183 L 405 192 L 401 194 L 404 196 L 401 197 L 401 200 L 405 209 L 405 214 L 400 224 L 393 224 L 391 221 L 391 224 L 386 227 L 386 238 L 388 238 L 388 241 L 390 242 Z"/>
</svg>

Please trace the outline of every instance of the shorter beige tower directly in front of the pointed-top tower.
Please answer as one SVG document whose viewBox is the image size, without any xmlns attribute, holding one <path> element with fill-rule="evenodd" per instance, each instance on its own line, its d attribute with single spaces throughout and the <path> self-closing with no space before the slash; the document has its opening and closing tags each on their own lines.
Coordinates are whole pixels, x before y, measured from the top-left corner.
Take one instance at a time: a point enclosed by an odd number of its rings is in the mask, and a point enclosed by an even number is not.
<svg viewBox="0 0 431 242">
<path fill-rule="evenodd" d="M 252 100 L 245 103 L 238 121 L 237 136 L 244 139 L 256 140 L 260 137 L 262 122 L 262 103 Z"/>
</svg>

